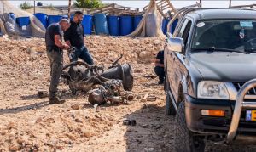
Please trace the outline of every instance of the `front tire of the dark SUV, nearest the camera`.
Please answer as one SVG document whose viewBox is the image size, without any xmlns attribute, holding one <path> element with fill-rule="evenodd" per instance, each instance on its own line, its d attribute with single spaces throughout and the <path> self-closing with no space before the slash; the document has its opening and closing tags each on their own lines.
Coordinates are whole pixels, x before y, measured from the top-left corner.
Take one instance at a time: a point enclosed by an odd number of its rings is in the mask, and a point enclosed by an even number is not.
<svg viewBox="0 0 256 152">
<path fill-rule="evenodd" d="M 194 136 L 187 127 L 184 101 L 179 104 L 175 117 L 174 145 L 176 152 L 203 152 L 206 146 L 203 138 Z"/>
</svg>

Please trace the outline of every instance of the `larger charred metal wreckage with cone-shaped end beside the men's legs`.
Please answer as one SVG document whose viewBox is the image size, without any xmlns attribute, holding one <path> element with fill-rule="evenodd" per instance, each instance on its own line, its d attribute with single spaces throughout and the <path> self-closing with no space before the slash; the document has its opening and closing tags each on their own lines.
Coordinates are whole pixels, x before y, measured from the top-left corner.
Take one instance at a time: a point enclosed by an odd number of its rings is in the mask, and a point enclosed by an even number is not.
<svg viewBox="0 0 256 152">
<path fill-rule="evenodd" d="M 123 55 L 119 59 L 122 58 Z M 63 70 L 70 67 L 69 71 L 62 73 L 64 82 L 69 85 L 73 94 L 77 91 L 87 93 L 94 85 L 102 85 L 102 82 L 107 82 L 113 79 L 121 80 L 125 90 L 131 91 L 133 87 L 133 76 L 131 73 L 131 65 L 116 65 L 119 62 L 117 59 L 112 66 L 104 71 L 104 67 L 96 65 L 88 65 L 85 62 L 76 61 L 69 65 L 66 65 Z M 83 66 L 76 66 L 83 65 Z M 102 74 L 99 74 L 99 71 Z M 92 72 L 94 71 L 94 73 Z"/>
</svg>

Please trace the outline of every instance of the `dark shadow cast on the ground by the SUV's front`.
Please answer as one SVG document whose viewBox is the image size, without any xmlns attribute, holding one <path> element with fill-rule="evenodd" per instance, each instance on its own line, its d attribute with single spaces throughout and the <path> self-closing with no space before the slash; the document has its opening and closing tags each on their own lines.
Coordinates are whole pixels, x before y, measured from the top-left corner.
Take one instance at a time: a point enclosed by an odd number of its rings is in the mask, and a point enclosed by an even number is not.
<svg viewBox="0 0 256 152">
<path fill-rule="evenodd" d="M 143 152 L 154 149 L 154 152 L 174 152 L 173 128 L 175 116 L 165 115 L 164 105 L 143 105 L 129 115 L 127 120 L 137 118 L 136 126 L 127 126 L 124 137 L 127 152 Z M 223 145 L 207 143 L 205 152 L 252 152 L 255 145 Z"/>
</svg>

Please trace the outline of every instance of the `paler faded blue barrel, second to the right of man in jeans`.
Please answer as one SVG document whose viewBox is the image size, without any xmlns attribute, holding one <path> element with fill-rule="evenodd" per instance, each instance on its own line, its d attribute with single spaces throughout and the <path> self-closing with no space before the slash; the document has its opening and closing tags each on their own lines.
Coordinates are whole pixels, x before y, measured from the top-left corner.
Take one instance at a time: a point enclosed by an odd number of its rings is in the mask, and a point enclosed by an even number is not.
<svg viewBox="0 0 256 152">
<path fill-rule="evenodd" d="M 107 17 L 105 14 L 93 15 L 93 24 L 97 35 L 109 34 Z"/>
</svg>

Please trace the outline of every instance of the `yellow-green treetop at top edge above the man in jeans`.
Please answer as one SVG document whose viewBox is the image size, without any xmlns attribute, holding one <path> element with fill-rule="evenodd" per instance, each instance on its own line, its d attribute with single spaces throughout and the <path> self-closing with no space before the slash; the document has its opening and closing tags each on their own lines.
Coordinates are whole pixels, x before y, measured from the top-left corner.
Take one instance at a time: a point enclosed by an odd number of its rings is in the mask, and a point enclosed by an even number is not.
<svg viewBox="0 0 256 152">
<path fill-rule="evenodd" d="M 76 0 L 73 6 L 75 8 L 99 8 L 104 5 L 101 0 Z"/>
</svg>

